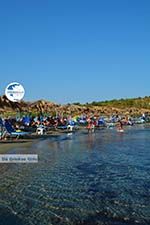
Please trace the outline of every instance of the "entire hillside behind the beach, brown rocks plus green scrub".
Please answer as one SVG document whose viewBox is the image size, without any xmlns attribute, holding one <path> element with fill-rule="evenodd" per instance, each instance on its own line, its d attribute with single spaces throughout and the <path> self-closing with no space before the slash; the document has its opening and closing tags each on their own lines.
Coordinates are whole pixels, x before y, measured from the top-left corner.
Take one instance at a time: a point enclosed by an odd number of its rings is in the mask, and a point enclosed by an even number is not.
<svg viewBox="0 0 150 225">
<path fill-rule="evenodd" d="M 0 114 L 15 115 L 17 113 L 51 114 L 51 115 L 141 115 L 142 113 L 150 114 L 150 97 L 119 99 L 111 101 L 92 102 L 86 104 L 73 103 L 67 105 L 58 105 L 53 102 L 38 100 L 35 102 L 20 103 L 10 102 L 6 96 L 0 97 Z"/>
</svg>

